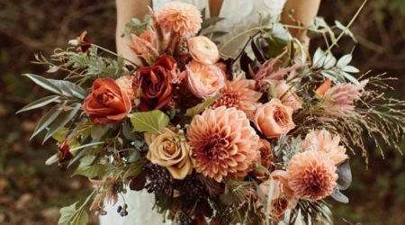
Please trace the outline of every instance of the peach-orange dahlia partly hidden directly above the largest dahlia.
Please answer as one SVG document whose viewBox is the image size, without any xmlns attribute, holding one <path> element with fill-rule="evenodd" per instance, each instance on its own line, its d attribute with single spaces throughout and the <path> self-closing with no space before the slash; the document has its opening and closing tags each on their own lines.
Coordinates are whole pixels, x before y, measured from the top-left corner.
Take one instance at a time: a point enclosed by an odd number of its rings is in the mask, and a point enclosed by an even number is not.
<svg viewBox="0 0 405 225">
<path fill-rule="evenodd" d="M 250 88 L 251 86 L 251 82 L 246 79 L 244 74 L 237 76 L 232 81 L 225 82 L 219 91 L 222 95 L 215 103 L 211 104 L 212 108 L 221 105 L 225 105 L 227 108 L 235 107 L 245 112 L 247 118 L 253 119 L 259 105 L 257 102 L 262 94 Z"/>
</svg>

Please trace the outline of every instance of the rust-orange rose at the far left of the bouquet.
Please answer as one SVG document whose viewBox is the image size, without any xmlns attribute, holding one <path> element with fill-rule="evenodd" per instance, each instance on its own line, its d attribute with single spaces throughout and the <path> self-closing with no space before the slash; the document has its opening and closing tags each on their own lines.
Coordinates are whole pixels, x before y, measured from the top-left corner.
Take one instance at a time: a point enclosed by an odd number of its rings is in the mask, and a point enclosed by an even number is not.
<svg viewBox="0 0 405 225">
<path fill-rule="evenodd" d="M 130 97 L 112 79 L 96 79 L 92 93 L 85 98 L 83 109 L 92 122 L 114 123 L 130 113 Z"/>
</svg>

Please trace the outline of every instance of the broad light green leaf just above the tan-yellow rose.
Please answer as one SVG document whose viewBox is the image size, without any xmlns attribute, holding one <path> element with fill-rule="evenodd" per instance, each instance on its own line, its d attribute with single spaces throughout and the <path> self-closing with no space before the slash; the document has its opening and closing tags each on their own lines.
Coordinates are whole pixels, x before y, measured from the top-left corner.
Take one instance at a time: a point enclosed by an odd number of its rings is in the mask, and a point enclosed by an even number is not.
<svg viewBox="0 0 405 225">
<path fill-rule="evenodd" d="M 133 130 L 157 134 L 165 128 L 170 121 L 168 116 L 160 110 L 152 112 L 134 112 L 128 115 L 132 123 Z"/>
</svg>

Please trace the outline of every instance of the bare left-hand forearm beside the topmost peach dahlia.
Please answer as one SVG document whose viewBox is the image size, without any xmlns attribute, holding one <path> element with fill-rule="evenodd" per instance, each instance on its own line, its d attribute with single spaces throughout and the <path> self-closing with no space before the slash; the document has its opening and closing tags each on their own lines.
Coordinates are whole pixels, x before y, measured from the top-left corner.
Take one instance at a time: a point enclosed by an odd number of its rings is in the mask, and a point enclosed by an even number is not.
<svg viewBox="0 0 405 225">
<path fill-rule="evenodd" d="M 151 6 L 151 0 L 116 0 L 117 5 L 117 30 L 115 40 L 117 53 L 131 61 L 136 61 L 135 54 L 130 50 L 126 43 L 130 43 L 130 35 L 121 38 L 124 32 L 125 23 L 130 22 L 132 18 L 138 18 L 140 21 L 148 14 L 148 5 Z"/>
</svg>

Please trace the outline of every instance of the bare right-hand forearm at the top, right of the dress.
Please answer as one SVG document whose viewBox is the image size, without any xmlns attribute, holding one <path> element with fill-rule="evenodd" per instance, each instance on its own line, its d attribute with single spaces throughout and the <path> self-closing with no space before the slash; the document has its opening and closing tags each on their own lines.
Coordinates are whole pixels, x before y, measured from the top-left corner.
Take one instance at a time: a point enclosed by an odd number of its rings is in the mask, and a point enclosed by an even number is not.
<svg viewBox="0 0 405 225">
<path fill-rule="evenodd" d="M 320 9 L 320 0 L 287 0 L 282 14 L 282 23 L 293 26 L 308 28 L 311 26 L 315 16 Z M 289 16 L 293 10 L 292 18 Z M 309 45 L 307 31 L 304 29 L 293 29 L 289 31 L 293 37 L 301 40 L 304 45 Z"/>
</svg>

